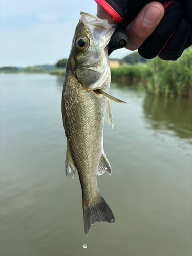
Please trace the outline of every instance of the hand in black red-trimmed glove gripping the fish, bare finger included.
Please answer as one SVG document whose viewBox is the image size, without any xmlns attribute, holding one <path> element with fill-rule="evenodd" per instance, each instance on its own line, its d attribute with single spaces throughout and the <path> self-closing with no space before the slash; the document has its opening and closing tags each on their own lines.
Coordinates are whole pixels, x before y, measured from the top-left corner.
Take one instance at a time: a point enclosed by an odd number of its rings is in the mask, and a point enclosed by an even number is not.
<svg viewBox="0 0 192 256">
<path fill-rule="evenodd" d="M 192 44 L 191 0 L 159 0 L 162 4 L 150 0 L 95 1 L 110 14 L 98 6 L 98 17 L 108 19 L 109 23 L 114 19 L 116 23 L 126 24 L 129 42 L 125 48 L 138 49 L 144 58 L 159 56 L 165 60 L 176 60 Z M 148 17 L 145 16 L 147 13 Z M 113 36 L 120 38 L 116 32 Z M 112 49 L 121 47 L 118 42 Z"/>
</svg>

